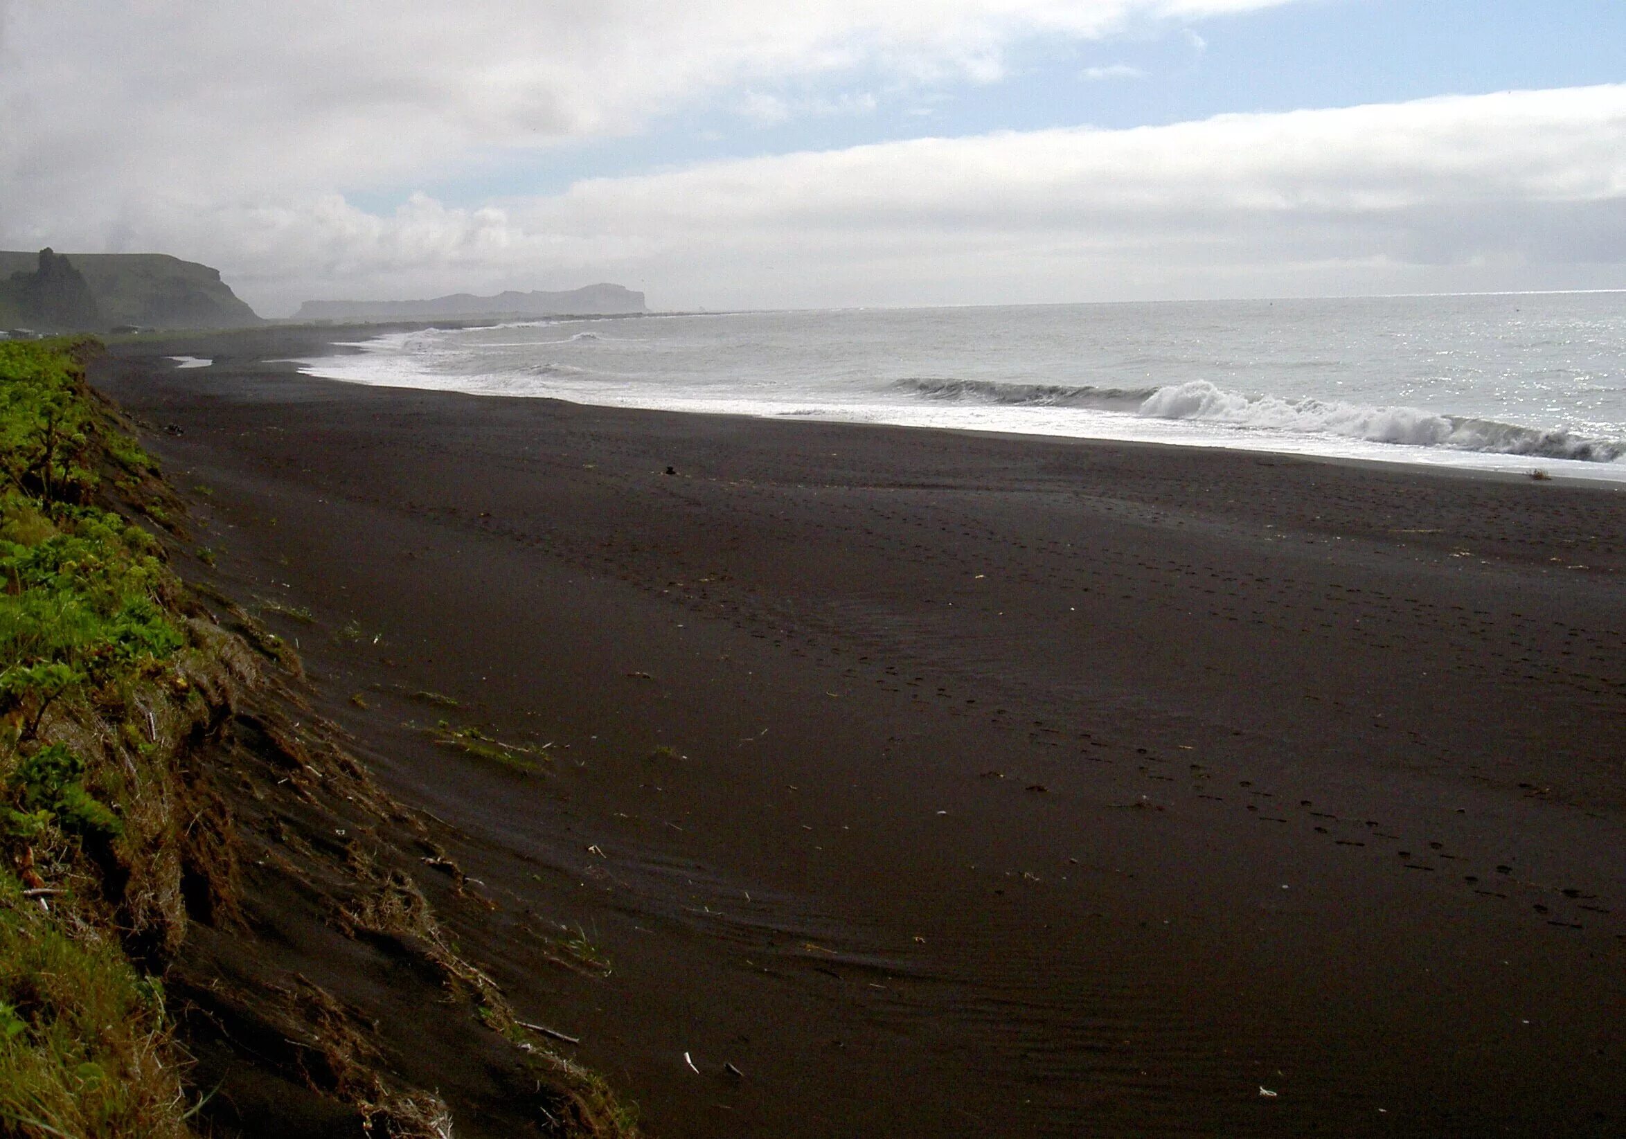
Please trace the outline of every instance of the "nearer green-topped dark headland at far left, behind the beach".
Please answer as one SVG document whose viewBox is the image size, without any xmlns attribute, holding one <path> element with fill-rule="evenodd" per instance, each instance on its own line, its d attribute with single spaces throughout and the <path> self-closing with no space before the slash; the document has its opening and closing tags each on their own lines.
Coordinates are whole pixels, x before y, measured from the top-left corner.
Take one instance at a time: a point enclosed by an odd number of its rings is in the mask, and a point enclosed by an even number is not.
<svg viewBox="0 0 1626 1139">
<path fill-rule="evenodd" d="M 167 253 L 0 252 L 0 323 L 42 331 L 141 328 L 237 328 L 262 323 L 220 270 Z M 91 305 L 70 276 L 81 278 Z M 49 281 L 46 279 L 49 276 Z M 21 278 L 21 279 L 20 279 Z M 46 309 L 39 302 L 47 302 Z M 67 307 L 63 307 L 67 305 Z M 47 310 L 49 309 L 49 310 Z"/>
</svg>

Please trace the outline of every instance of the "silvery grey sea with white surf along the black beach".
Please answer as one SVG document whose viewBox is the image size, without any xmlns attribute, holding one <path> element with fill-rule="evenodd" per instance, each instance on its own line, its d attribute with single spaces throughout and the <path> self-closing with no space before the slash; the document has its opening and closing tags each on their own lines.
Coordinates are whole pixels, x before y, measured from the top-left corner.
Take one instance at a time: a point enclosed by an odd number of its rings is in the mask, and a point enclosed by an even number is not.
<svg viewBox="0 0 1626 1139">
<path fill-rule="evenodd" d="M 1626 481 L 1626 292 L 842 309 L 387 333 L 312 375 Z"/>
</svg>

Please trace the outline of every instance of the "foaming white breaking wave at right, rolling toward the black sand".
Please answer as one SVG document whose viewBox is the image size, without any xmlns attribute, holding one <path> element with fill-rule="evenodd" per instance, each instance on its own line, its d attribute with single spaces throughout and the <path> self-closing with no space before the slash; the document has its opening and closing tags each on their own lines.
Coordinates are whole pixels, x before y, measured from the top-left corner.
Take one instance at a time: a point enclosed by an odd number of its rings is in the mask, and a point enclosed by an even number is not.
<svg viewBox="0 0 1626 1139">
<path fill-rule="evenodd" d="M 1153 419 L 1197 419 L 1231 427 L 1345 435 L 1376 444 L 1452 447 L 1457 450 L 1574 458 L 1613 463 L 1626 455 L 1626 439 L 1589 439 L 1569 431 L 1543 431 L 1494 419 L 1447 416 L 1419 408 L 1369 408 L 1325 400 L 1283 400 L 1229 392 L 1208 380 L 1158 388 L 1140 406 Z"/>
</svg>

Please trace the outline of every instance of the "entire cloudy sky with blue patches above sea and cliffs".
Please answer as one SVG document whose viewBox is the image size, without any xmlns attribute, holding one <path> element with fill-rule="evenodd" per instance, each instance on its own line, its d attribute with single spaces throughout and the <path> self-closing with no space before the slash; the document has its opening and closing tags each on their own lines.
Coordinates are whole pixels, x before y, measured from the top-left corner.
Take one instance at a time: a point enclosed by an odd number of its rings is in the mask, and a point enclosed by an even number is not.
<svg viewBox="0 0 1626 1139">
<path fill-rule="evenodd" d="M 1619 0 L 0 0 L 0 123 L 273 317 L 1626 288 Z"/>
</svg>

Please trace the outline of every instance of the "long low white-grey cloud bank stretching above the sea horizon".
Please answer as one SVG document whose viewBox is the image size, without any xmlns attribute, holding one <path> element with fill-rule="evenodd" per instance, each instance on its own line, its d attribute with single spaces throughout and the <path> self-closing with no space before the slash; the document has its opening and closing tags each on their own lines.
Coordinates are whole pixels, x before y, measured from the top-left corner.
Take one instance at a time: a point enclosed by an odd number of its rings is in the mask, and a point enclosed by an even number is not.
<svg viewBox="0 0 1626 1139">
<path fill-rule="evenodd" d="M 616 279 L 662 307 L 1626 284 L 1626 86 L 922 138 L 377 218 L 151 214 L 268 309 Z"/>
</svg>

